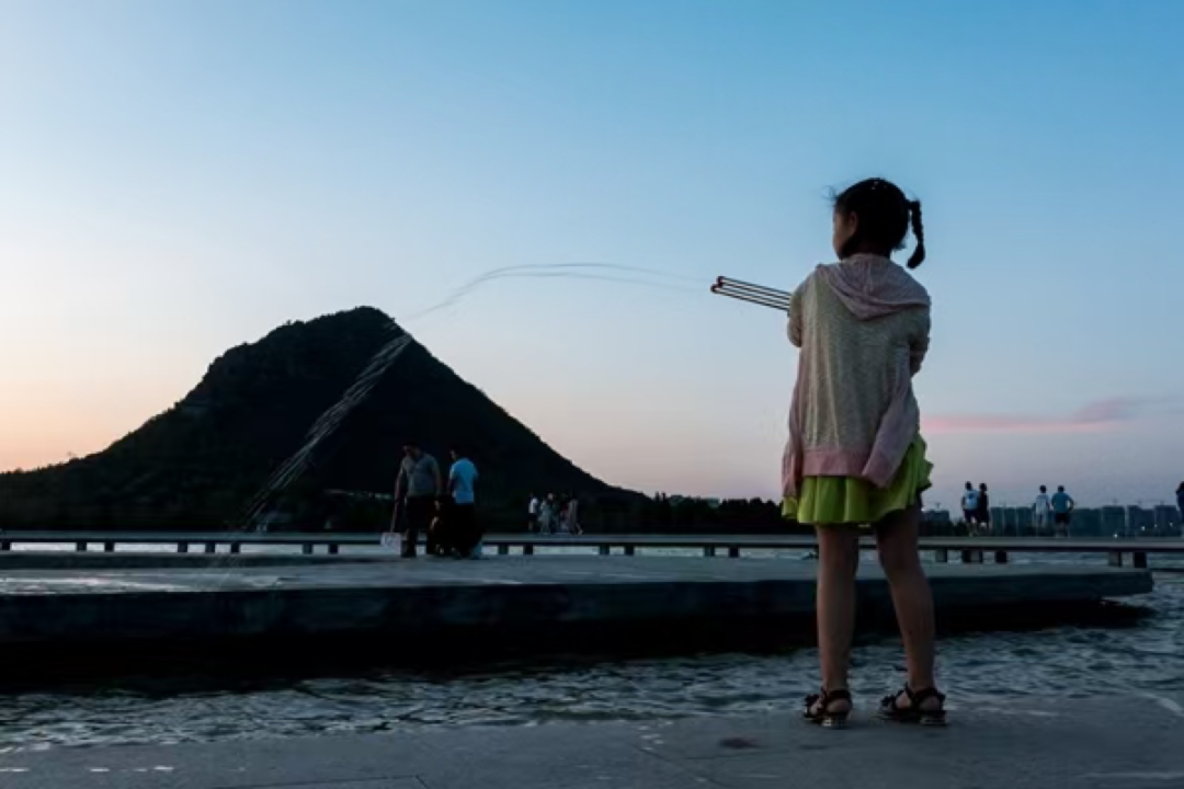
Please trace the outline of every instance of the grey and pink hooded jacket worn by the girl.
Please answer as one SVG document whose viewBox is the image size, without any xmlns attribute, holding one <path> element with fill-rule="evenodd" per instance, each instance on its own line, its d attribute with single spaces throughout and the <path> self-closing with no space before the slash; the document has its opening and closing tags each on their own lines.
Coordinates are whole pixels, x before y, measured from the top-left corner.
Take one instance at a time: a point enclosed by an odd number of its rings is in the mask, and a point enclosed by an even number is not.
<svg viewBox="0 0 1184 789">
<path fill-rule="evenodd" d="M 929 345 L 929 296 L 888 258 L 818 266 L 793 292 L 802 349 L 783 459 L 785 496 L 804 477 L 886 487 L 920 429 L 913 375 Z"/>
</svg>

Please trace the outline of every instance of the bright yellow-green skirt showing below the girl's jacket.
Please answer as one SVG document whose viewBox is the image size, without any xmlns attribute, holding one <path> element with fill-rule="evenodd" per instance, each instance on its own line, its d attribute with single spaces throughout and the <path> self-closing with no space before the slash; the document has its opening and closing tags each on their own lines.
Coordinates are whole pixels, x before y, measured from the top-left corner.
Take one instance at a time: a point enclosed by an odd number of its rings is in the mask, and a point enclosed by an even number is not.
<svg viewBox="0 0 1184 789">
<path fill-rule="evenodd" d="M 925 439 L 918 435 L 888 487 L 855 477 L 806 477 L 798 498 L 781 502 L 781 516 L 816 526 L 870 526 L 915 505 L 921 491 L 932 485 L 932 471 L 933 464 L 925 458 Z"/>
</svg>

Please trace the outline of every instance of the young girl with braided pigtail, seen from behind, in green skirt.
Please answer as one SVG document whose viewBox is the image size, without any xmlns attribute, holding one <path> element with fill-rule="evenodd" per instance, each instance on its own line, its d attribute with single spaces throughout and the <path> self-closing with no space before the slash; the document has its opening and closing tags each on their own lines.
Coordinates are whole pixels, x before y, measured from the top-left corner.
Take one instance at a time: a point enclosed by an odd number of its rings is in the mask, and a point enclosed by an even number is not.
<svg viewBox="0 0 1184 789">
<path fill-rule="evenodd" d="M 925 259 L 921 203 L 882 179 L 835 199 L 838 263 L 818 266 L 793 292 L 790 342 L 800 348 L 783 477 L 784 512 L 818 532 L 818 647 L 822 692 L 805 717 L 839 727 L 855 627 L 860 529 L 876 536 L 908 665 L 903 690 L 881 716 L 941 725 L 945 697 L 933 678 L 933 599 L 918 551 L 925 458 L 913 376 L 929 344 L 929 296 L 890 254 L 909 225 L 915 269 Z"/>
</svg>

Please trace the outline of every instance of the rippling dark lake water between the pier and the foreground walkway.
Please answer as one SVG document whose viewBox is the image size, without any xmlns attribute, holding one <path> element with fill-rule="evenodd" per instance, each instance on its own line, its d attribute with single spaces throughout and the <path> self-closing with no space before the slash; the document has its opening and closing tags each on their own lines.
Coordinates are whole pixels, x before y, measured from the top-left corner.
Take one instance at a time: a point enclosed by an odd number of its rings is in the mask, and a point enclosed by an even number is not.
<svg viewBox="0 0 1184 789">
<path fill-rule="evenodd" d="M 1057 563 L 1096 567 L 1101 561 L 1066 557 Z M 1127 602 L 1146 607 L 1150 615 L 1125 627 L 944 639 L 940 675 L 951 706 L 1038 710 L 1045 698 L 1125 694 L 1184 719 L 1184 574 L 1157 574 L 1153 594 Z M 854 659 L 852 687 L 864 707 L 902 680 L 894 639 L 862 644 Z M 816 661 L 812 648 L 800 648 L 661 659 L 549 658 L 436 672 L 373 668 L 335 678 L 285 677 L 282 665 L 265 679 L 120 678 L 0 696 L 0 749 L 787 710 L 817 685 Z"/>
</svg>

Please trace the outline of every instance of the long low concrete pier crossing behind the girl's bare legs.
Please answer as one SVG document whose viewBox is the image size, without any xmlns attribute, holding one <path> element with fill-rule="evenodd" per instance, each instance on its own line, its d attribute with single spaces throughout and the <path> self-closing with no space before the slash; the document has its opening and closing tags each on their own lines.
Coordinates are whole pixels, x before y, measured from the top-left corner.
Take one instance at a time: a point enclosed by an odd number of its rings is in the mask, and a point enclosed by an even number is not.
<svg viewBox="0 0 1184 789">
<path fill-rule="evenodd" d="M 117 555 L 116 555 L 117 556 Z M 0 573 L 0 645 L 59 641 L 496 632 L 532 644 L 564 626 L 689 629 L 758 623 L 810 632 L 812 562 L 671 557 L 491 557 L 201 569 Z M 1143 569 L 931 568 L 939 616 L 1147 593 Z M 861 619 L 890 615 L 879 570 L 861 569 Z"/>
</svg>

